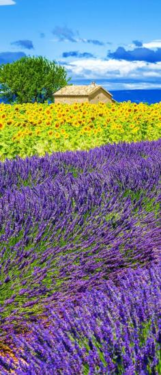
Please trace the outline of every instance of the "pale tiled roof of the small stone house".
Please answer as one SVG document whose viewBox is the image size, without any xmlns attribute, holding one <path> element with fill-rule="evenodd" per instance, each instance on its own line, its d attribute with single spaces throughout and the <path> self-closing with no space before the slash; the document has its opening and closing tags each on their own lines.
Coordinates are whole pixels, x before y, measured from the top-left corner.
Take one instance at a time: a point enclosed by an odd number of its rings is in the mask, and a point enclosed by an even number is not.
<svg viewBox="0 0 161 375">
<path fill-rule="evenodd" d="M 89 96 L 93 94 L 93 92 L 97 91 L 99 88 L 102 88 L 101 86 L 95 85 L 68 85 L 57 92 L 54 93 L 54 96 Z M 102 88 L 107 94 L 110 96 L 113 96 L 110 92 L 106 91 L 104 88 Z"/>
</svg>

